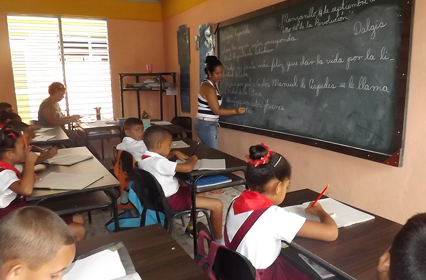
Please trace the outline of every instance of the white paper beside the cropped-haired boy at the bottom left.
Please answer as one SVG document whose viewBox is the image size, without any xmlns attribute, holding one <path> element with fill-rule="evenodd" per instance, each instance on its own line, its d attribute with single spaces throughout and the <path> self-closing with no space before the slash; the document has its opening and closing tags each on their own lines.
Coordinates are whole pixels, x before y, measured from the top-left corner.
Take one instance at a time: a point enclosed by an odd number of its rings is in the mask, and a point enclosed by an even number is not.
<svg viewBox="0 0 426 280">
<path fill-rule="evenodd" d="M 62 273 L 62 280 L 115 280 L 125 276 L 118 251 L 106 249 L 72 263 Z"/>
</svg>

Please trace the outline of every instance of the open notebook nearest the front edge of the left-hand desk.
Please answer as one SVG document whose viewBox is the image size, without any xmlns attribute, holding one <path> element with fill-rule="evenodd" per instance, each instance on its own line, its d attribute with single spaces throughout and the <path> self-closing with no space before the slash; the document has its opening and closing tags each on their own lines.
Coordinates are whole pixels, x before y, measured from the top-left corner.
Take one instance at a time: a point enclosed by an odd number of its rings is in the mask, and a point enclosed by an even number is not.
<svg viewBox="0 0 426 280">
<path fill-rule="evenodd" d="M 50 172 L 46 177 L 34 184 L 36 188 L 80 190 L 98 181 L 104 175 L 83 173 L 67 174 Z"/>
</svg>

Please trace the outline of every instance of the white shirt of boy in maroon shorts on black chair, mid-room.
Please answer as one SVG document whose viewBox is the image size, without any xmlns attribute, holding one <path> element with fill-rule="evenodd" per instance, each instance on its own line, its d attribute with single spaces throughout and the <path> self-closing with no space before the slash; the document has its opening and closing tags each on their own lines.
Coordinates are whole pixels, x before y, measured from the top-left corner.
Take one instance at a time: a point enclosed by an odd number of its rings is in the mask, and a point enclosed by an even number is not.
<svg viewBox="0 0 426 280">
<path fill-rule="evenodd" d="M 155 177 L 155 179 L 157 179 L 158 183 L 160 183 L 163 188 L 164 195 L 166 197 L 177 193 L 179 189 L 179 182 L 174 176 L 176 173 L 176 165 L 178 163 L 149 151 L 146 151 L 143 155 L 150 157 L 138 161 L 139 168 L 148 171 Z"/>
</svg>

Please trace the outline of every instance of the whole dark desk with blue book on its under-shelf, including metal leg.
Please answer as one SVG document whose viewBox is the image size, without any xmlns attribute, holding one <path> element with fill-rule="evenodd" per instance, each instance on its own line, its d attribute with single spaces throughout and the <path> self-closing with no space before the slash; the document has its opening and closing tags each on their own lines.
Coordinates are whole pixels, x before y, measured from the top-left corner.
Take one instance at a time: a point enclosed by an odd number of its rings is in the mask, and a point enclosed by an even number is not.
<svg viewBox="0 0 426 280">
<path fill-rule="evenodd" d="M 186 142 L 190 147 L 189 148 L 181 148 L 179 151 L 182 153 L 191 156 L 194 153 L 195 147 L 197 146 L 196 141 L 188 139 L 188 138 L 182 138 L 179 140 L 183 140 Z M 194 232 L 197 232 L 197 215 L 195 215 L 195 195 L 200 192 L 206 192 L 210 190 L 225 188 L 225 187 L 234 187 L 234 186 L 240 186 L 246 184 L 246 179 L 241 178 L 235 174 L 232 174 L 232 172 L 242 171 L 246 172 L 247 169 L 247 163 L 244 160 L 241 160 L 235 156 L 231 156 L 228 154 L 225 154 L 221 151 L 218 151 L 216 149 L 210 148 L 204 144 L 199 144 L 197 150 L 195 151 L 195 155 L 198 156 L 199 159 L 203 158 L 209 158 L 209 159 L 219 159 L 224 158 L 226 161 L 226 169 L 225 170 L 192 170 L 188 173 L 179 173 L 178 177 L 183 177 L 183 179 L 189 179 L 191 182 L 191 194 L 192 194 L 192 220 L 193 220 L 193 226 L 194 226 Z M 196 187 L 197 181 L 205 176 L 209 175 L 219 175 L 223 174 L 226 177 L 232 179 L 232 182 L 215 185 L 211 187 Z M 197 237 L 194 235 L 194 254 L 197 253 Z"/>
</svg>

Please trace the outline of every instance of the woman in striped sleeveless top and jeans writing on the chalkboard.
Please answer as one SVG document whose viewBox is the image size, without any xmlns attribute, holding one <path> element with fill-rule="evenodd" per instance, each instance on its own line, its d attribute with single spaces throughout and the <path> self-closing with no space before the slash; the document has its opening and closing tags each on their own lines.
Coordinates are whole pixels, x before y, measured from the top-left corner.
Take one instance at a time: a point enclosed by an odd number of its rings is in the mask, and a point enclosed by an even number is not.
<svg viewBox="0 0 426 280">
<path fill-rule="evenodd" d="M 215 56 L 206 58 L 204 71 L 207 74 L 207 78 L 201 83 L 200 92 L 198 93 L 198 112 L 194 120 L 194 127 L 203 144 L 217 149 L 219 116 L 244 114 L 246 108 L 220 108 L 222 95 L 220 95 L 216 83 L 222 78 L 223 66 Z"/>
</svg>

